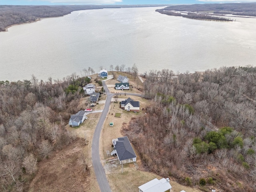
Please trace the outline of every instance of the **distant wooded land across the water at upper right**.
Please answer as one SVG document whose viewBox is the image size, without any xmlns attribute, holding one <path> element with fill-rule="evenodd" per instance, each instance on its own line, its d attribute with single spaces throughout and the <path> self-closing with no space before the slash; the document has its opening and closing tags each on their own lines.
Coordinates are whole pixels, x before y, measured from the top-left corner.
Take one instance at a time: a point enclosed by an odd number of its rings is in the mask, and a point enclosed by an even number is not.
<svg viewBox="0 0 256 192">
<path fill-rule="evenodd" d="M 187 11 L 194 12 L 190 14 L 177 14 L 172 11 Z M 193 4 L 193 5 L 176 5 L 168 6 L 163 9 L 156 10 L 161 14 L 172 16 L 182 16 L 191 19 L 205 19 L 205 20 L 231 20 L 224 18 L 224 14 L 240 15 L 240 16 L 256 16 L 256 3 L 224 3 L 224 4 Z M 200 12 L 200 13 L 196 13 Z M 202 14 L 204 12 L 204 14 Z M 223 16 L 212 16 L 212 14 L 222 14 Z"/>
</svg>

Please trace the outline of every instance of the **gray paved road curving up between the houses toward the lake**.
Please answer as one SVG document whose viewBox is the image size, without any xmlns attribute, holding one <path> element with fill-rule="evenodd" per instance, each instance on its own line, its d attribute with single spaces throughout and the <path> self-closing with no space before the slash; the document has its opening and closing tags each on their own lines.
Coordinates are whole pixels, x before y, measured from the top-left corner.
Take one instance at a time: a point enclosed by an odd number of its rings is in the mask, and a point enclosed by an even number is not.
<svg viewBox="0 0 256 192">
<path fill-rule="evenodd" d="M 105 118 L 108 114 L 108 109 L 110 106 L 111 98 L 115 94 L 109 92 L 108 87 L 106 86 L 104 81 L 102 81 L 102 85 L 104 86 L 105 92 L 107 94 L 107 99 L 106 99 L 106 103 L 105 103 L 104 109 L 102 111 L 102 114 L 100 116 L 100 119 L 98 121 L 98 124 L 95 128 L 93 139 L 92 139 L 92 166 L 94 168 L 94 172 L 95 172 L 98 184 L 100 186 L 100 190 L 102 192 L 111 192 L 110 186 L 108 184 L 108 180 L 106 178 L 105 170 L 100 162 L 99 143 L 100 143 L 100 132 L 101 132 L 103 123 L 105 121 Z M 122 93 L 122 94 L 124 94 L 124 93 Z M 130 94 L 126 93 L 126 94 L 142 97 L 141 94 L 135 94 L 135 93 L 130 93 Z"/>
</svg>

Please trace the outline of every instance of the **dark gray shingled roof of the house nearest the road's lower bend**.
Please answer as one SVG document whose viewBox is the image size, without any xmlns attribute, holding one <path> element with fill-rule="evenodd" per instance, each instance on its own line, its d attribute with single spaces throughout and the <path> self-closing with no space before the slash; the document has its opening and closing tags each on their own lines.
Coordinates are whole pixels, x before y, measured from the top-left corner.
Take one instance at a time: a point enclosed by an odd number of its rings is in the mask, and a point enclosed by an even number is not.
<svg viewBox="0 0 256 192">
<path fill-rule="evenodd" d="M 127 136 L 118 138 L 114 149 L 120 161 L 137 157 Z"/>
</svg>

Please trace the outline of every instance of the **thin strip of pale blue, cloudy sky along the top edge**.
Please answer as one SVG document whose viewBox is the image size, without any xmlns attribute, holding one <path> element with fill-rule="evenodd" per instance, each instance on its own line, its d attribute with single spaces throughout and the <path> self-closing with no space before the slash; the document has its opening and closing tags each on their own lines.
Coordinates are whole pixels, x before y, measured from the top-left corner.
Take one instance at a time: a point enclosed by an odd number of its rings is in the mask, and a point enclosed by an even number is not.
<svg viewBox="0 0 256 192">
<path fill-rule="evenodd" d="M 134 5 L 134 4 L 204 4 L 256 2 L 256 0 L 0 0 L 0 5 Z"/>
</svg>

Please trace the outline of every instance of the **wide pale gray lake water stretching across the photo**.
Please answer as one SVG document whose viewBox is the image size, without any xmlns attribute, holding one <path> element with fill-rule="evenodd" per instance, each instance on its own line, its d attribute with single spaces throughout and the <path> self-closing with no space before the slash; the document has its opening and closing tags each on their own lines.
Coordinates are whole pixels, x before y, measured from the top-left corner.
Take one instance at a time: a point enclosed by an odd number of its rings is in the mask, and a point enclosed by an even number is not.
<svg viewBox="0 0 256 192">
<path fill-rule="evenodd" d="M 157 8 L 82 10 L 0 33 L 0 80 L 62 79 L 91 67 L 194 72 L 256 64 L 256 18 L 191 20 Z"/>
</svg>

